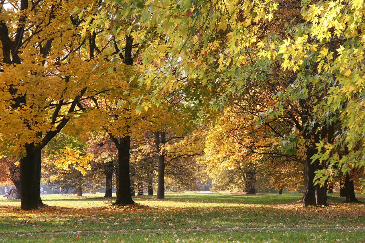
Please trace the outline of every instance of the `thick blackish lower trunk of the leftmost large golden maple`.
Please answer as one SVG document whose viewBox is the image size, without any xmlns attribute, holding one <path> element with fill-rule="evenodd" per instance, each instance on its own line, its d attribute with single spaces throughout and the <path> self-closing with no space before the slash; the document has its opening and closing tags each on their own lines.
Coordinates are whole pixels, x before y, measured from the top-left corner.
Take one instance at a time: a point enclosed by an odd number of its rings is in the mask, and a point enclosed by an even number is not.
<svg viewBox="0 0 365 243">
<path fill-rule="evenodd" d="M 19 160 L 20 190 L 22 195 L 21 209 L 38 209 L 37 188 L 35 185 L 35 154 L 31 153 L 33 146 L 26 145 L 26 156 Z M 39 193 L 39 192 L 38 192 Z"/>
</svg>

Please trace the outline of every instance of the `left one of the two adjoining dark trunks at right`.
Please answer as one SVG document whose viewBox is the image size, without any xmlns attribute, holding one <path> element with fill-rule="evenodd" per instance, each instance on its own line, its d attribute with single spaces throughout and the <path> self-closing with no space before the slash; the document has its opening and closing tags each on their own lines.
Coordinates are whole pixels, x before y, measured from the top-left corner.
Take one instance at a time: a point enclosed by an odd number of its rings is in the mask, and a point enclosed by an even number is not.
<svg viewBox="0 0 365 243">
<path fill-rule="evenodd" d="M 316 205 L 316 193 L 315 186 L 313 185 L 314 179 L 314 164 L 311 162 L 311 157 L 314 155 L 313 148 L 307 148 L 307 158 L 304 161 L 304 195 L 303 206 Z"/>
</svg>

